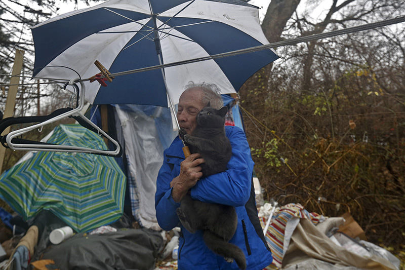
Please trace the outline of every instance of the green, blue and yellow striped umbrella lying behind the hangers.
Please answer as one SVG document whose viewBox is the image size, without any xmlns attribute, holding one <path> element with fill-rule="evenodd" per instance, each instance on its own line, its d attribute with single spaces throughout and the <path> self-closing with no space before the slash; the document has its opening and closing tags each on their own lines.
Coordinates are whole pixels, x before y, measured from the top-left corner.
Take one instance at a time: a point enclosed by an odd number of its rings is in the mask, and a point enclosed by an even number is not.
<svg viewBox="0 0 405 270">
<path fill-rule="evenodd" d="M 47 142 L 106 149 L 100 136 L 80 125 L 57 126 Z M 125 186 L 112 157 L 38 151 L 0 177 L 0 198 L 25 220 L 47 209 L 80 233 L 123 214 Z"/>
</svg>

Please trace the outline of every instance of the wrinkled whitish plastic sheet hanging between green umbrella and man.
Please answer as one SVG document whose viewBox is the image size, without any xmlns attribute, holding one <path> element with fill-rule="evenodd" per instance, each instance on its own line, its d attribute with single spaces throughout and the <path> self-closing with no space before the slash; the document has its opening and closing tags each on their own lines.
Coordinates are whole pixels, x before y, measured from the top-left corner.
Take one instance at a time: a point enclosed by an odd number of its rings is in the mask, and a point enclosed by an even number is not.
<svg viewBox="0 0 405 270">
<path fill-rule="evenodd" d="M 169 108 L 157 106 L 115 106 L 125 141 L 127 181 L 132 213 L 142 226 L 160 229 L 156 220 L 154 195 L 163 151 L 177 135 Z M 118 123 L 118 122 L 117 122 Z"/>
</svg>

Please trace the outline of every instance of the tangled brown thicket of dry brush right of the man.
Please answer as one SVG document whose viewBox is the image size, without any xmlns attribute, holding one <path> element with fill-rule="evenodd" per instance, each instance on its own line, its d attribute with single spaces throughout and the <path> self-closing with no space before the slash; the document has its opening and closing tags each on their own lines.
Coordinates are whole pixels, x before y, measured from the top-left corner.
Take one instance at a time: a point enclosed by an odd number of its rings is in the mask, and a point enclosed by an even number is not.
<svg viewBox="0 0 405 270">
<path fill-rule="evenodd" d="M 399 252 L 405 103 L 395 92 L 375 94 L 364 76 L 354 70 L 328 87 L 293 91 L 257 73 L 239 91 L 242 116 L 265 200 L 350 212 L 371 242 Z"/>
</svg>

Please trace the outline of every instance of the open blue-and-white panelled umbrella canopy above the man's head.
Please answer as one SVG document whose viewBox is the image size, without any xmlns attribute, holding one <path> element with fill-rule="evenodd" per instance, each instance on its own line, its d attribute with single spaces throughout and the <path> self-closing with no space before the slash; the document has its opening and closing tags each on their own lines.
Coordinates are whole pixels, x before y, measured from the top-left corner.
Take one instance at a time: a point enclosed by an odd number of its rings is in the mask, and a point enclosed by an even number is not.
<svg viewBox="0 0 405 270">
<path fill-rule="evenodd" d="M 33 76 L 71 80 L 150 67 L 268 44 L 258 8 L 239 0 L 110 0 L 63 14 L 32 28 Z M 272 50 L 239 54 L 117 76 L 108 87 L 86 85 L 93 104 L 176 104 L 189 82 L 215 83 L 235 93 L 278 56 Z M 166 86 L 168 89 L 166 89 Z"/>
</svg>

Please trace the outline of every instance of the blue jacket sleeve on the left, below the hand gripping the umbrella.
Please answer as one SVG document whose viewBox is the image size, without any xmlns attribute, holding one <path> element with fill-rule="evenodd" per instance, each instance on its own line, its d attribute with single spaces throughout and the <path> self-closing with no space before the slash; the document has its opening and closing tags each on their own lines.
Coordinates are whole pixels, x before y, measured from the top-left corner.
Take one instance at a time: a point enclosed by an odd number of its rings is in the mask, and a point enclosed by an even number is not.
<svg viewBox="0 0 405 270">
<path fill-rule="evenodd" d="M 165 157 L 165 154 L 164 154 Z M 164 230 L 171 230 L 179 223 L 176 209 L 180 203 L 176 203 L 172 197 L 170 182 L 173 180 L 172 170 L 169 164 L 164 161 L 156 180 L 155 209 L 157 223 Z"/>
</svg>

